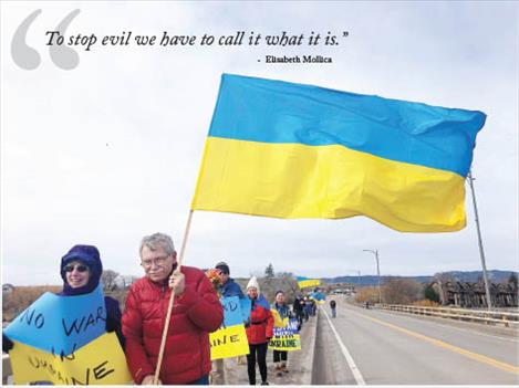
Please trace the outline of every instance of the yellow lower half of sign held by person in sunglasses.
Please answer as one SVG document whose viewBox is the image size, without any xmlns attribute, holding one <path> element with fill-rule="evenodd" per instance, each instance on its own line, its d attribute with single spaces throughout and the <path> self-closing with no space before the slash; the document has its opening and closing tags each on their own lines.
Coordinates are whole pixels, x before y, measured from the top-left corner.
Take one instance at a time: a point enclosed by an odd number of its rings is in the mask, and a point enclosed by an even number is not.
<svg viewBox="0 0 519 388">
<path fill-rule="evenodd" d="M 9 353 L 14 384 L 121 385 L 132 381 L 115 333 L 106 333 L 68 356 L 56 356 L 14 342 Z"/>
</svg>

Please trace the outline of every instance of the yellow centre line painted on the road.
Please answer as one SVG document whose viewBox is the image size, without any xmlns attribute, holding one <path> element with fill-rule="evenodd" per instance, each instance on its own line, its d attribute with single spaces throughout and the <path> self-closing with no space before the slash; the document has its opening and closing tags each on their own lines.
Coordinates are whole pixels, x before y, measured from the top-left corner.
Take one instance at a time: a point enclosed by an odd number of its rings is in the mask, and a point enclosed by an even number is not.
<svg viewBox="0 0 519 388">
<path fill-rule="evenodd" d="M 367 315 L 364 315 L 364 314 L 360 314 L 357 312 L 353 312 L 351 311 L 353 314 L 355 315 L 359 315 L 365 319 L 370 319 L 370 321 L 373 321 L 380 325 L 383 325 L 383 326 L 387 326 L 390 328 L 393 328 L 395 331 L 398 331 L 398 332 L 402 332 L 402 333 L 405 333 L 407 335 L 411 335 L 412 337 L 415 337 L 415 338 L 419 338 L 419 339 L 423 339 L 429 344 L 433 344 L 433 345 L 436 345 L 436 346 L 439 346 L 439 347 L 443 347 L 445 349 L 448 349 L 448 350 L 451 350 L 451 352 L 455 352 L 459 355 L 463 355 L 465 357 L 468 357 L 468 358 L 471 358 L 471 359 L 475 359 L 479 363 L 484 363 L 484 364 L 487 364 L 487 365 L 491 365 L 496 368 L 499 368 L 501 370 L 506 370 L 506 371 L 509 371 L 509 373 L 512 373 L 512 374 L 516 374 L 516 375 L 519 375 L 519 368 L 513 366 L 513 365 L 510 365 L 510 364 L 507 364 L 507 363 L 502 363 L 502 361 L 499 361 L 497 359 L 494 359 L 494 358 L 490 358 L 490 357 L 487 357 L 487 356 L 484 356 L 484 355 L 480 355 L 480 354 L 477 354 L 477 353 L 473 353 L 473 352 L 469 352 L 469 350 L 466 350 L 464 348 L 460 348 L 458 346 L 455 346 L 455 345 L 450 345 L 448 343 L 445 343 L 443 340 L 439 340 L 439 339 L 436 339 L 436 338 L 433 338 L 433 337 L 428 337 L 426 335 L 423 335 L 423 334 L 419 334 L 419 333 L 416 333 L 416 332 L 413 332 L 413 331 L 409 331 L 407 328 L 404 328 L 404 327 L 401 327 L 401 326 L 396 326 L 396 325 L 393 325 L 391 323 L 387 323 L 387 322 L 384 322 L 384 321 L 381 321 L 381 319 L 377 319 L 377 318 L 373 318 L 371 316 L 367 316 Z"/>
</svg>

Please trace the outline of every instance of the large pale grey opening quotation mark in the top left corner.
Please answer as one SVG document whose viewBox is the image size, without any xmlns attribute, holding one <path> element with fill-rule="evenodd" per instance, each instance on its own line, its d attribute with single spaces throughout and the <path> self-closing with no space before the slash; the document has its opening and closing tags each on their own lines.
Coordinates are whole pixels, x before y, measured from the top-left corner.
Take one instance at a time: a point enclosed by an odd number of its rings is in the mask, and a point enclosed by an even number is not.
<svg viewBox="0 0 519 388">
<path fill-rule="evenodd" d="M 55 31 L 59 31 L 60 34 L 64 34 L 65 30 L 69 28 L 69 24 L 74 20 L 74 18 L 80 13 L 81 11 L 74 10 L 71 13 L 69 13 L 60 24 L 58 24 Z M 29 46 L 25 42 L 27 38 L 27 32 L 29 28 L 31 27 L 32 22 L 34 19 L 38 18 L 38 15 L 41 13 L 40 10 L 35 10 L 32 12 L 30 15 L 28 15 L 21 24 L 18 27 L 17 31 L 14 32 L 14 35 L 12 36 L 11 41 L 11 56 L 14 63 L 20 66 L 21 69 L 24 70 L 34 70 L 37 69 L 40 63 L 41 63 L 41 56 L 37 50 Z M 51 55 L 52 62 L 60 69 L 63 70 L 72 70 L 77 66 L 80 63 L 80 56 L 77 53 L 72 50 L 71 48 L 68 48 L 66 45 L 51 45 L 49 48 L 49 53 Z"/>
</svg>

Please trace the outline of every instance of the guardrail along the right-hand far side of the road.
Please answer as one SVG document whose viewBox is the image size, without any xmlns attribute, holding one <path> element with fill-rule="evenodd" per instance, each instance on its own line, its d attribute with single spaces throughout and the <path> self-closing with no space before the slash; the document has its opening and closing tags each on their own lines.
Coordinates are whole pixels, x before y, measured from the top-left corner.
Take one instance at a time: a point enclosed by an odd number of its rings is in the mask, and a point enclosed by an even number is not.
<svg viewBox="0 0 519 388">
<path fill-rule="evenodd" d="M 423 307 L 401 304 L 382 304 L 378 305 L 378 307 L 408 314 L 439 316 L 460 321 L 474 321 L 484 324 L 505 325 L 506 327 L 519 327 L 519 311 L 505 312 L 454 307 Z"/>
</svg>

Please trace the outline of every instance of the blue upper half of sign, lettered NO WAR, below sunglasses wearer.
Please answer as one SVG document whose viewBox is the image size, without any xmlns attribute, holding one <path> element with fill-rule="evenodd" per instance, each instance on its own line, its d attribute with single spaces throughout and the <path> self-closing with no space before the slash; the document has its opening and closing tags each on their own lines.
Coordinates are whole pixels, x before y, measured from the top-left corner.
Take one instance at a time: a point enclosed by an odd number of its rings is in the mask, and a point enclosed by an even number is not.
<svg viewBox="0 0 519 388">
<path fill-rule="evenodd" d="M 106 307 L 101 285 L 92 293 L 60 296 L 44 293 L 3 333 L 13 340 L 69 356 L 105 332 Z"/>
</svg>

